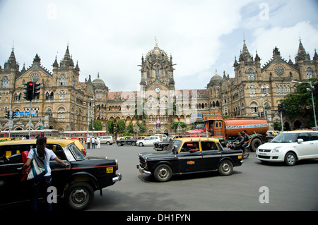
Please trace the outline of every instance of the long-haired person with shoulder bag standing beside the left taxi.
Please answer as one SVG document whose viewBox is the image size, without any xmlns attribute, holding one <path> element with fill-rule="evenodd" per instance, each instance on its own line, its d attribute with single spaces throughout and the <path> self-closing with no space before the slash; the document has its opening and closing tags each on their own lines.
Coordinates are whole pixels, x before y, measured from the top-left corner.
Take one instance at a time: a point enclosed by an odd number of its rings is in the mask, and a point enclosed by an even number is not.
<svg viewBox="0 0 318 225">
<path fill-rule="evenodd" d="M 37 145 L 36 150 L 32 149 L 30 150 L 28 154 L 27 162 L 23 165 L 23 169 L 27 169 L 28 166 L 30 166 L 33 159 L 35 159 L 36 156 L 44 159 L 46 167 L 47 167 L 47 174 L 45 174 L 42 178 L 40 178 L 38 181 L 33 183 L 32 186 L 32 193 L 31 193 L 31 210 L 37 211 L 37 202 L 39 198 L 39 192 L 40 187 L 45 188 L 45 205 L 47 207 L 47 211 L 52 211 L 52 205 L 51 203 L 47 202 L 47 188 L 51 186 L 52 183 L 52 176 L 51 176 L 51 168 L 49 167 L 49 161 L 55 160 L 59 164 L 63 166 L 69 166 L 69 164 L 63 162 L 61 159 L 59 159 L 56 154 L 52 150 L 49 150 L 47 147 L 47 138 L 40 137 L 37 138 Z"/>
</svg>

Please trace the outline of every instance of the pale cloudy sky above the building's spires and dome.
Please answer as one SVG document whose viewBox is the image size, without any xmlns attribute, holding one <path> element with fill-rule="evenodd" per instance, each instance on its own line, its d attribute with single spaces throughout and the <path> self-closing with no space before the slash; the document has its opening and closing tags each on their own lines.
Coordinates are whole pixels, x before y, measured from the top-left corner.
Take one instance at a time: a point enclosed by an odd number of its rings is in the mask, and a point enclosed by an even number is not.
<svg viewBox="0 0 318 225">
<path fill-rule="evenodd" d="M 204 89 L 223 71 L 234 76 L 243 39 L 264 65 L 274 47 L 295 62 L 301 38 L 318 48 L 317 0 L 0 0 L 0 65 L 14 45 L 20 69 L 35 54 L 52 71 L 69 44 L 80 80 L 100 78 L 112 91 L 138 90 L 141 56 L 155 47 L 172 54 L 176 89 Z"/>
</svg>

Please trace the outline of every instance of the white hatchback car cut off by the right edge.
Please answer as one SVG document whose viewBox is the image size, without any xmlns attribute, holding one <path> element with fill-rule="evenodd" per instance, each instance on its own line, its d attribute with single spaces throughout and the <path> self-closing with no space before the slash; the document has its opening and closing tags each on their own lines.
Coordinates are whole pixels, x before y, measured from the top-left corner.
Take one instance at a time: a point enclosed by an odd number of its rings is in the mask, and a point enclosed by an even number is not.
<svg viewBox="0 0 318 225">
<path fill-rule="evenodd" d="M 256 151 L 261 162 L 295 165 L 302 159 L 318 159 L 318 131 L 289 131 L 276 135 Z"/>
</svg>

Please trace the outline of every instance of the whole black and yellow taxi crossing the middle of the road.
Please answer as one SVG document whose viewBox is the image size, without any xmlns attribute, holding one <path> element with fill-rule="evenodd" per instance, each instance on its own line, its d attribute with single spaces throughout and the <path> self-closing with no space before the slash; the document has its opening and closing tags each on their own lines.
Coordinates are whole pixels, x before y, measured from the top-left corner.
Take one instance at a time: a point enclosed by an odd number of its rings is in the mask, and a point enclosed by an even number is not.
<svg viewBox="0 0 318 225">
<path fill-rule="evenodd" d="M 242 163 L 241 150 L 225 150 L 216 138 L 176 138 L 165 151 L 139 153 L 137 169 L 164 182 L 172 175 L 204 171 L 228 176 Z"/>
</svg>

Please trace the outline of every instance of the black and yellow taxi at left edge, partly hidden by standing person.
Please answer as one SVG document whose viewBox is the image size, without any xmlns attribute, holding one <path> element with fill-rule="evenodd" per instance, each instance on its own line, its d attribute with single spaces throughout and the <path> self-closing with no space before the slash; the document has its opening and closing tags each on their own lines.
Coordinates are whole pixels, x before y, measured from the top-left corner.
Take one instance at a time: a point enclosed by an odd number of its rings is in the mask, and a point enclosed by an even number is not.
<svg viewBox="0 0 318 225">
<path fill-rule="evenodd" d="M 22 154 L 35 147 L 35 139 L 0 142 L 0 205 L 28 201 L 29 181 L 23 177 Z M 94 198 L 95 190 L 112 186 L 122 179 L 116 174 L 118 162 L 107 157 L 86 157 L 73 140 L 47 139 L 47 148 L 59 159 L 67 162 L 64 167 L 54 160 L 50 162 L 52 186 L 59 197 L 71 209 L 86 209 Z"/>
</svg>

